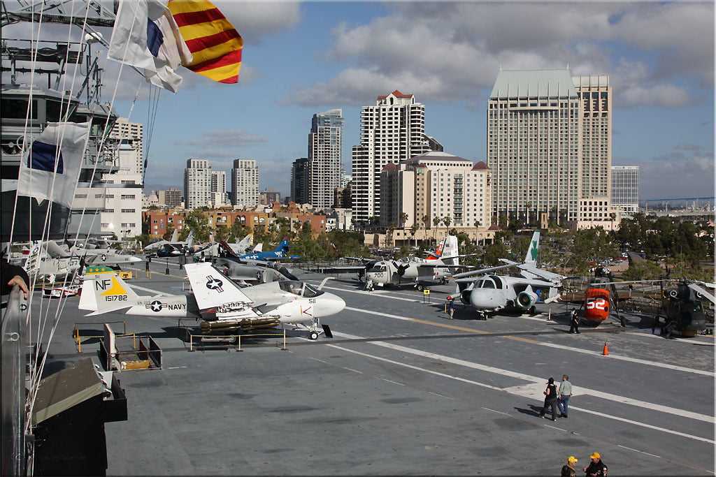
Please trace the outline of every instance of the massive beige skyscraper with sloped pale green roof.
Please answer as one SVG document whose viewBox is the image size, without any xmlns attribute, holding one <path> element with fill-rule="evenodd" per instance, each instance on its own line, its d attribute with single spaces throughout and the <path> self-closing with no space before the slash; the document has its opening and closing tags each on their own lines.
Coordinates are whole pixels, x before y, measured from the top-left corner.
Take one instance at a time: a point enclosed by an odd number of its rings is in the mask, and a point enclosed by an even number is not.
<svg viewBox="0 0 716 477">
<path fill-rule="evenodd" d="M 609 77 L 566 69 L 501 71 L 488 102 L 493 213 L 578 220 L 579 201 L 609 203 Z"/>
</svg>

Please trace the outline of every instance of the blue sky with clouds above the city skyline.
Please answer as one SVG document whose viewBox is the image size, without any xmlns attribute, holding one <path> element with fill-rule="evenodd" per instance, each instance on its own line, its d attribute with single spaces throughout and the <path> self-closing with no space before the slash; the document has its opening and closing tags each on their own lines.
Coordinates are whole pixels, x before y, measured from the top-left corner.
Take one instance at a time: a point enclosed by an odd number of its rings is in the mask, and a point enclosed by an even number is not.
<svg viewBox="0 0 716 477">
<path fill-rule="evenodd" d="M 396 89 L 425 104 L 426 132 L 446 152 L 484 160 L 500 67 L 569 65 L 574 75 L 609 75 L 613 164 L 642 166 L 642 199 L 713 195 L 713 2 L 214 3 L 244 39 L 239 82 L 180 69 L 179 92 L 160 95 L 149 185 L 181 185 L 188 158 L 227 172 L 233 159 L 256 159 L 261 190 L 286 195 L 311 116 L 334 108 L 343 109 L 350 174 L 360 108 Z M 142 79 L 106 68 L 105 94 L 119 77 L 115 108 L 126 117 Z M 147 90 L 130 117 L 145 128 Z"/>
</svg>

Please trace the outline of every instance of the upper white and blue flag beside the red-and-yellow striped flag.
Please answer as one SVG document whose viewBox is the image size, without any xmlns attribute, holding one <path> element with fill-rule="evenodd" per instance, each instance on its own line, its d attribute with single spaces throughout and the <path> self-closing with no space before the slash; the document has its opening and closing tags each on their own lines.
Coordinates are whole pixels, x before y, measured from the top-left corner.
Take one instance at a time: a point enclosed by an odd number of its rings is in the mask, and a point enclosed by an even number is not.
<svg viewBox="0 0 716 477">
<path fill-rule="evenodd" d="M 143 68 L 148 82 L 177 92 L 175 73 L 193 57 L 171 11 L 158 0 L 122 0 L 112 29 L 107 58 Z"/>
</svg>

